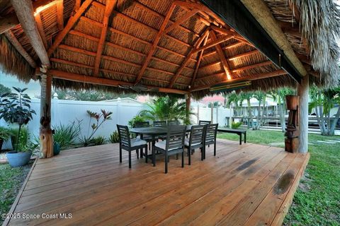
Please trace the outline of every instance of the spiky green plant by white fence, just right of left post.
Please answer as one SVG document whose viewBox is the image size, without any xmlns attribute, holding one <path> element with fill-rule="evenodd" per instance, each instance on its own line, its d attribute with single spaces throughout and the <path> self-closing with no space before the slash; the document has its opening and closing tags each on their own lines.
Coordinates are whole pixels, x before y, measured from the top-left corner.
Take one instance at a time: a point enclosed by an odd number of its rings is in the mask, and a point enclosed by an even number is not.
<svg viewBox="0 0 340 226">
<path fill-rule="evenodd" d="M 61 150 L 67 149 L 76 143 L 80 133 L 80 125 L 80 123 L 76 125 L 75 121 L 73 121 L 69 125 L 59 124 L 53 126 L 53 130 L 55 131 L 53 139 L 59 143 Z"/>
</svg>

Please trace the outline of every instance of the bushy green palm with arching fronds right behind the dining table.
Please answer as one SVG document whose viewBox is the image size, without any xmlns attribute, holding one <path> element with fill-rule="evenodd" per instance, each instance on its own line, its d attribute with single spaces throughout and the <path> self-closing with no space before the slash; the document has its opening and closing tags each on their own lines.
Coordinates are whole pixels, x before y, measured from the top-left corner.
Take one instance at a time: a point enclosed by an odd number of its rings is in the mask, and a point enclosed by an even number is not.
<svg viewBox="0 0 340 226">
<path fill-rule="evenodd" d="M 183 120 L 185 124 L 190 124 L 191 121 L 187 117 L 191 112 L 186 110 L 186 102 L 179 101 L 177 97 L 165 96 L 152 100 L 148 103 L 149 109 L 142 110 L 140 116 L 151 121 L 157 120 Z"/>
</svg>

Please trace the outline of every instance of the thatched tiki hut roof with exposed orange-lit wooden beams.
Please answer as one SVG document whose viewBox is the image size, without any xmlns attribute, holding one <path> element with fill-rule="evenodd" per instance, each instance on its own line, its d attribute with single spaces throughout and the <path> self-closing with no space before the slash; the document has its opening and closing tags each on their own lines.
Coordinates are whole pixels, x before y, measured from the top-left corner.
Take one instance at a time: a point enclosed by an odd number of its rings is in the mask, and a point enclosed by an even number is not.
<svg viewBox="0 0 340 226">
<path fill-rule="evenodd" d="M 300 114 L 307 114 L 309 83 L 339 83 L 339 8 L 332 0 L 1 0 L 0 6 L 1 69 L 21 81 L 40 79 L 47 90 L 42 106 L 51 83 L 193 97 L 222 83 L 244 90 L 300 86 Z"/>
</svg>

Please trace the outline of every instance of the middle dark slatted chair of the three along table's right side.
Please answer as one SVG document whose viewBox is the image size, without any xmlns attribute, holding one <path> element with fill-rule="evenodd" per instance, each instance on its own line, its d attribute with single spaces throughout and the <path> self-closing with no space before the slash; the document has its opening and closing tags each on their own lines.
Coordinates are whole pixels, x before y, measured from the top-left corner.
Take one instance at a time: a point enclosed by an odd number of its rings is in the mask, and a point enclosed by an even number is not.
<svg viewBox="0 0 340 226">
<path fill-rule="evenodd" d="M 203 161 L 204 135 L 205 125 L 191 126 L 190 137 L 184 141 L 185 147 L 188 148 L 188 165 L 191 165 L 191 155 L 196 148 L 200 148 L 200 159 Z"/>
</svg>

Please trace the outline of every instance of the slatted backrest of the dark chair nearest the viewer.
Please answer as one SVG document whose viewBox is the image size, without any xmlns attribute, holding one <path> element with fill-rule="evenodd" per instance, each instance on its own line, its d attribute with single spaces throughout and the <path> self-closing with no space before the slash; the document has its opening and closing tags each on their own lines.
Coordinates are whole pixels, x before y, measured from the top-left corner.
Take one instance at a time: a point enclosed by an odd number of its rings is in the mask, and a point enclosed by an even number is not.
<svg viewBox="0 0 340 226">
<path fill-rule="evenodd" d="M 184 148 L 186 126 L 169 126 L 166 134 L 166 150 Z"/>
</svg>

